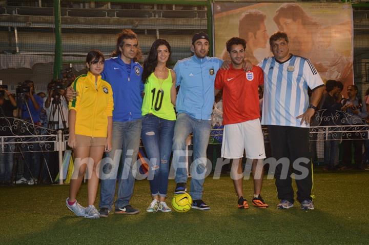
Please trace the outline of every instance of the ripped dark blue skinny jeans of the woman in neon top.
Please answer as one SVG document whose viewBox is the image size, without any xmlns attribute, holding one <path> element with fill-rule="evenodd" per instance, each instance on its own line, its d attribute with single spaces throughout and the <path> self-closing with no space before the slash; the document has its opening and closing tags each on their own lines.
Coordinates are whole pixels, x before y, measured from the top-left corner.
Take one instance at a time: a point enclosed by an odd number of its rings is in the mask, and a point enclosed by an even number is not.
<svg viewBox="0 0 369 245">
<path fill-rule="evenodd" d="M 148 114 L 142 118 L 141 138 L 149 159 L 150 190 L 152 196 L 167 196 L 169 158 L 175 120 L 166 120 Z"/>
</svg>

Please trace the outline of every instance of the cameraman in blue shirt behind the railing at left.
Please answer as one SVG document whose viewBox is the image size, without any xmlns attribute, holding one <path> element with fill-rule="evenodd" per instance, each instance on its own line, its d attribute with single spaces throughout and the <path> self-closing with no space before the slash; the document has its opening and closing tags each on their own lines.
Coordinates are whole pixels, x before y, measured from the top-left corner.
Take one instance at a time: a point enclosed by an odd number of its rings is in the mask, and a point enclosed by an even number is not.
<svg viewBox="0 0 369 245">
<path fill-rule="evenodd" d="M 42 111 L 44 100 L 34 93 L 34 84 L 31 80 L 25 80 L 24 83 L 18 85 L 16 88 L 17 98 L 22 102 L 22 105 L 19 105 L 22 109 L 22 119 L 35 126 L 41 126 L 40 112 Z M 30 130 L 32 132 L 30 132 Z M 28 126 L 27 130 L 25 130 L 25 135 L 31 134 L 34 135 L 38 133 L 35 128 Z M 35 139 L 27 138 L 27 140 L 34 141 Z M 29 152 L 29 149 L 35 152 Z M 25 166 L 24 176 L 17 180 L 16 183 L 28 183 L 28 185 L 33 185 L 37 182 L 40 173 L 42 154 L 39 152 L 39 144 L 34 143 L 32 146 L 27 145 L 22 148 L 22 151 L 25 152 L 24 157 L 28 168 Z"/>
</svg>

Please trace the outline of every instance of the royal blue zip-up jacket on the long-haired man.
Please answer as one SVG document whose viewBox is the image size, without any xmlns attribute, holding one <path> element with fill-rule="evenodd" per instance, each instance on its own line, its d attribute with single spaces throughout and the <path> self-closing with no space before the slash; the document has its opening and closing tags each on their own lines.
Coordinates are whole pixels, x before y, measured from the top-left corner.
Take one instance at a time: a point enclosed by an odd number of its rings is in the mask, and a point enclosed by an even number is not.
<svg viewBox="0 0 369 245">
<path fill-rule="evenodd" d="M 144 91 L 141 75 L 141 65 L 133 60 L 130 75 L 120 57 L 105 60 L 101 77 L 110 84 L 113 90 L 113 121 L 130 121 L 141 118 L 141 92 Z"/>
</svg>

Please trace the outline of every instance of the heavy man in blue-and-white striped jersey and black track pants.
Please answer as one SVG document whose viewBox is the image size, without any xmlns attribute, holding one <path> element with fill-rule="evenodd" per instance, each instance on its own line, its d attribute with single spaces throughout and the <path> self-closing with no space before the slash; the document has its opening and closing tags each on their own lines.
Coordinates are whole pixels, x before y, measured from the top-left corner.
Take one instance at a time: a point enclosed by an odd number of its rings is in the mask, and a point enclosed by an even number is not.
<svg viewBox="0 0 369 245">
<path fill-rule="evenodd" d="M 261 124 L 268 126 L 272 157 L 278 163 L 274 166 L 278 199 L 281 200 L 277 207 L 293 207 L 293 172 L 301 209 L 314 209 L 309 123 L 322 96 L 324 84 L 309 59 L 290 54 L 289 39 L 285 33 L 274 33 L 269 43 L 274 57 L 265 58 L 259 64 L 264 71 Z M 313 91 L 310 101 L 308 87 Z M 286 165 L 282 158 L 289 159 L 289 164 Z"/>
</svg>

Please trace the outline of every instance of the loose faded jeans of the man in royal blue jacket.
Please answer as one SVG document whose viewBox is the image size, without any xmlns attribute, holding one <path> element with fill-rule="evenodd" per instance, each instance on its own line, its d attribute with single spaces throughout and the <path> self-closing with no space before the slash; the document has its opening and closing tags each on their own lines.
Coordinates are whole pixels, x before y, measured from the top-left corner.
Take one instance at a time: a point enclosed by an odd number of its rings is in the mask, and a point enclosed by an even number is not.
<svg viewBox="0 0 369 245">
<path fill-rule="evenodd" d="M 135 181 L 132 168 L 137 160 L 141 128 L 141 118 L 133 121 L 113 121 L 112 150 L 107 157 L 114 160 L 109 164 L 101 165 L 100 172 L 109 177 L 101 179 L 99 208 L 112 209 L 117 176 L 119 177 L 118 196 L 114 203 L 115 208 L 129 204 Z M 121 158 L 119 150 L 121 150 Z M 115 154 L 116 151 L 117 154 Z M 121 165 L 121 171 L 118 174 L 119 165 Z"/>
</svg>

